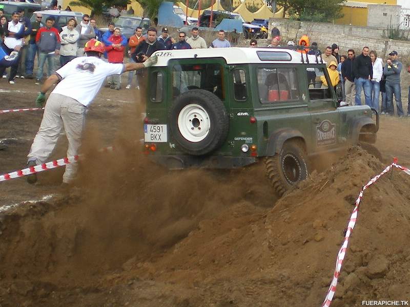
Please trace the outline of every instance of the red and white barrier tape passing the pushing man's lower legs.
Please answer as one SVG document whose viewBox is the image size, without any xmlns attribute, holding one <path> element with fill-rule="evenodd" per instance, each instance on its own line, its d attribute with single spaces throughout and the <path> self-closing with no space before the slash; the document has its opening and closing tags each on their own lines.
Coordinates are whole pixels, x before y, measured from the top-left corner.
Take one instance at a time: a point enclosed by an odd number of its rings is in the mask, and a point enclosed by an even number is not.
<svg viewBox="0 0 410 307">
<path fill-rule="evenodd" d="M 101 152 L 101 151 L 113 151 L 113 150 L 114 150 L 114 147 L 110 146 L 110 147 L 101 148 L 98 151 Z M 63 159 L 58 159 L 58 160 L 50 161 L 50 162 L 47 162 L 47 163 L 39 164 L 39 165 L 36 165 L 36 166 L 31 166 L 31 167 L 28 167 L 28 168 L 13 171 L 11 173 L 1 175 L 0 176 L 0 182 L 10 180 L 10 179 L 14 179 L 14 178 L 18 178 L 18 177 L 27 176 L 29 174 L 44 171 L 44 170 L 47 170 L 47 169 L 56 168 L 56 167 L 59 167 L 59 166 L 64 166 L 64 165 L 67 165 L 67 164 L 70 164 L 70 163 L 75 163 L 81 157 L 82 157 L 82 155 L 66 157 L 66 158 L 63 158 Z"/>
</svg>

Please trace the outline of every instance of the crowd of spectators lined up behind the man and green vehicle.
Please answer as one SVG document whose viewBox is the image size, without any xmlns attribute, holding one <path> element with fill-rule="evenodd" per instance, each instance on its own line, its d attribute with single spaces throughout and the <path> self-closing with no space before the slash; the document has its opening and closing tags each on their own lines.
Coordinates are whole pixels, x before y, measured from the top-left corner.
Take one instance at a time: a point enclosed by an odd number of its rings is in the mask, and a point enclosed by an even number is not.
<svg viewBox="0 0 410 307">
<path fill-rule="evenodd" d="M 8 76 L 4 69 L 0 70 L 0 75 L 8 78 L 10 84 L 14 84 L 15 78 L 34 78 L 33 68 L 36 56 L 38 67 L 35 78 L 36 84 L 40 84 L 43 80 L 46 61 L 47 76 L 50 76 L 58 68 L 55 61 L 57 56 L 59 56 L 59 67 L 75 57 L 84 56 L 85 43 L 91 38 L 104 42 L 105 58 L 110 63 L 140 62 L 158 50 L 228 48 L 231 47 L 232 42 L 226 38 L 223 30 L 219 30 L 217 38 L 207 46 L 196 27 L 192 28 L 190 37 L 188 33 L 179 31 L 178 39 L 169 34 L 167 27 L 163 27 L 159 35 L 156 28 L 149 28 L 147 34 L 143 35 L 142 28 L 138 27 L 135 33 L 127 39 L 113 23 L 108 24 L 108 31 L 103 34 L 98 29 L 96 20 L 87 14 L 83 15 L 79 24 L 74 18 L 68 20 L 67 26 L 63 27 L 59 33 L 54 27 L 55 20 L 52 16 L 46 20 L 42 18 L 42 14 L 37 13 L 35 20 L 30 22 L 24 16 L 24 11 L 20 10 L 14 12 L 9 21 L 0 9 L 0 27 L 6 32 L 5 45 L 10 49 L 21 45 L 18 65 L 11 67 Z M 280 31 L 274 28 L 271 44 L 268 47 L 280 47 L 280 41 Z M 295 42 L 289 41 L 287 45 L 294 46 Z M 400 88 L 400 73 L 403 65 L 397 60 L 396 51 L 392 51 L 389 59 L 383 63 L 383 60 L 377 56 L 377 52 L 370 51 L 368 47 L 363 47 L 357 56 L 353 49 L 348 49 L 347 54 L 343 55 L 339 46 L 333 43 L 327 46 L 322 53 L 316 42 L 310 44 L 309 37 L 306 35 L 299 39 L 298 45 L 304 47 L 299 48 L 299 52 L 320 56 L 326 62 L 331 85 L 335 87 L 341 100 L 348 105 L 360 105 L 363 92 L 365 104 L 380 109 L 381 114 L 394 115 L 394 96 L 397 115 L 404 116 Z M 257 40 L 251 39 L 249 47 L 258 47 Z M 309 82 L 314 88 L 328 85 L 323 76 L 316 76 L 314 69 L 308 68 L 307 71 Z M 139 89 L 138 78 L 141 72 L 129 73 L 126 89 L 131 89 L 134 78 L 135 87 Z M 111 76 L 106 86 L 120 90 L 120 76 Z M 380 96 L 381 105 L 379 107 Z M 407 110 L 407 116 L 410 116 L 410 108 Z"/>
</svg>

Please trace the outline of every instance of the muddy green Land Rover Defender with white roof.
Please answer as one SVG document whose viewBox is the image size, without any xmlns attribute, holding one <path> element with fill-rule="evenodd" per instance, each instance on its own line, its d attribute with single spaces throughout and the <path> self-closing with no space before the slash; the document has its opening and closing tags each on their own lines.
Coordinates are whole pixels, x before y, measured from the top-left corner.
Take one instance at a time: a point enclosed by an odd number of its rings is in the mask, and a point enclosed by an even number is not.
<svg viewBox="0 0 410 307">
<path fill-rule="evenodd" d="M 281 196 L 308 176 L 321 153 L 376 142 L 377 111 L 341 107 L 325 85 L 331 84 L 326 64 L 315 55 L 276 48 L 155 55 L 144 150 L 169 169 L 235 168 L 262 158 Z"/>
</svg>

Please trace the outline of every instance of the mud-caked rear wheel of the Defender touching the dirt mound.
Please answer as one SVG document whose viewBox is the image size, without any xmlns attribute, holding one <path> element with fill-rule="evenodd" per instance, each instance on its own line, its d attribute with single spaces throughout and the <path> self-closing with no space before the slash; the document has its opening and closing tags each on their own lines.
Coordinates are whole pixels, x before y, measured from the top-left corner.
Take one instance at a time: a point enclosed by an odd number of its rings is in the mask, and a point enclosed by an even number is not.
<svg viewBox="0 0 410 307">
<path fill-rule="evenodd" d="M 285 142 L 280 152 L 268 157 L 265 164 L 266 174 L 279 197 L 308 177 L 308 159 L 299 142 Z"/>
</svg>

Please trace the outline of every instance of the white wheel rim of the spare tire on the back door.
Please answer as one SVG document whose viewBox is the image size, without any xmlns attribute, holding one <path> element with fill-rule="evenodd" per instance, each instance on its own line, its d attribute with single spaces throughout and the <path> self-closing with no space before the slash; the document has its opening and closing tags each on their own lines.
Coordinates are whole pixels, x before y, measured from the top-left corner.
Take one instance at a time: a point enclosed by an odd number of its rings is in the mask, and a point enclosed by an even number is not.
<svg viewBox="0 0 410 307">
<path fill-rule="evenodd" d="M 188 104 L 178 115 L 178 128 L 182 137 L 190 142 L 200 142 L 208 136 L 211 121 L 208 112 L 198 104 Z"/>
</svg>

